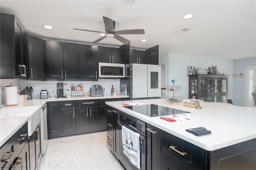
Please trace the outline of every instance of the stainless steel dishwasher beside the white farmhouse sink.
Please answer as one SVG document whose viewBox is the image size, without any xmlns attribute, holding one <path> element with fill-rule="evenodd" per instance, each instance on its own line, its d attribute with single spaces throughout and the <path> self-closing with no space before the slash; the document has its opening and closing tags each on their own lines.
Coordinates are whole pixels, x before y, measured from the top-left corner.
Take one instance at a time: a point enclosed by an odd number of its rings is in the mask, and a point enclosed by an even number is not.
<svg viewBox="0 0 256 170">
<path fill-rule="evenodd" d="M 47 105 L 45 104 L 41 108 L 41 151 L 42 154 L 45 153 L 47 142 L 48 142 L 48 132 L 47 132 Z"/>
</svg>

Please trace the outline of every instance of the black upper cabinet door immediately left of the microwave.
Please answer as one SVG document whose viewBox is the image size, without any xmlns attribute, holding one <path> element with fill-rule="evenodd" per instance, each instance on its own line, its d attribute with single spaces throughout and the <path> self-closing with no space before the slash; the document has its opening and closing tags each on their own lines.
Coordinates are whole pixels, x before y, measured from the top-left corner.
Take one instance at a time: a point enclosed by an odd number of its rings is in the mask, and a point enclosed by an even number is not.
<svg viewBox="0 0 256 170">
<path fill-rule="evenodd" d="M 96 47 L 93 45 L 82 45 L 80 49 L 80 79 L 96 80 L 97 79 L 97 64 Z"/>
</svg>

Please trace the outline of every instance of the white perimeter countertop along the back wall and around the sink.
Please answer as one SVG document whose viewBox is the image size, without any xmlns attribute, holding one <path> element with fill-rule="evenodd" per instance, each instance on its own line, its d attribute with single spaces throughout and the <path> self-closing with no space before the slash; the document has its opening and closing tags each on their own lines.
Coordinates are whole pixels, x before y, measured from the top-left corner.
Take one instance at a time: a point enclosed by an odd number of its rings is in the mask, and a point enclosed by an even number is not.
<svg viewBox="0 0 256 170">
<path fill-rule="evenodd" d="M 70 97 L 64 99 L 48 98 L 48 99 L 29 99 L 24 103 L 19 103 L 16 106 L 5 106 L 1 105 L 2 108 L 10 107 L 28 107 L 28 106 L 39 106 L 42 107 L 48 101 L 69 101 L 69 100 L 92 100 L 92 99 L 118 99 L 126 98 L 128 96 L 101 96 L 101 97 Z M 0 119 L 0 146 L 2 146 L 22 125 L 28 121 L 29 117 L 10 117 Z"/>
</svg>

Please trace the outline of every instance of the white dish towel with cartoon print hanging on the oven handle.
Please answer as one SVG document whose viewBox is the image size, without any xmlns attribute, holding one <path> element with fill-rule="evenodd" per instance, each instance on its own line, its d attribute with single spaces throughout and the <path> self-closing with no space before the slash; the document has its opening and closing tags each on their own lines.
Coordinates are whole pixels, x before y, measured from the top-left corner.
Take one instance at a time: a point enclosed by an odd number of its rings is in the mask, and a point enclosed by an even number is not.
<svg viewBox="0 0 256 170">
<path fill-rule="evenodd" d="M 122 143 L 124 154 L 136 168 L 140 169 L 140 134 L 122 126 Z"/>
</svg>

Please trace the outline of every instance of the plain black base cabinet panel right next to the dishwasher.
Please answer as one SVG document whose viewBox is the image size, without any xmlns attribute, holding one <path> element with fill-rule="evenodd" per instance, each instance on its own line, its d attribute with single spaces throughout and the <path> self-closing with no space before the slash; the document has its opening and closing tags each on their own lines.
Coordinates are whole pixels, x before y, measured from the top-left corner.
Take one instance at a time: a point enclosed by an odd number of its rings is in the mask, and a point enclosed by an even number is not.
<svg viewBox="0 0 256 170">
<path fill-rule="evenodd" d="M 47 102 L 47 128 L 48 138 L 62 134 L 61 107 L 59 101 Z"/>
</svg>

